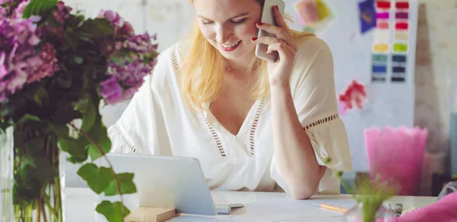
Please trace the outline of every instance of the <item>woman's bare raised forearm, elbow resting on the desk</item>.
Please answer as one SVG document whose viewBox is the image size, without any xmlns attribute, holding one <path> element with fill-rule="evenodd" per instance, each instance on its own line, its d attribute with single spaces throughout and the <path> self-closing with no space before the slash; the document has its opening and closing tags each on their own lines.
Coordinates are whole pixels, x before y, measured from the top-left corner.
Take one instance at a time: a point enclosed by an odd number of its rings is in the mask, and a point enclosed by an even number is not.
<svg viewBox="0 0 457 222">
<path fill-rule="evenodd" d="M 271 86 L 271 110 L 273 145 L 279 171 L 292 197 L 306 199 L 315 193 L 325 166 L 317 164 L 287 84 Z"/>
</svg>

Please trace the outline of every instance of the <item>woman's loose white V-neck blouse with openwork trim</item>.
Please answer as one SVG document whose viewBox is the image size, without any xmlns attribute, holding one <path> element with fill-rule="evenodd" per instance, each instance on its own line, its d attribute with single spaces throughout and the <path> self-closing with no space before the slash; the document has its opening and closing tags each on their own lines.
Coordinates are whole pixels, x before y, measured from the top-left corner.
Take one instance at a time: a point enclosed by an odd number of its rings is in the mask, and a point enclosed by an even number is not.
<svg viewBox="0 0 457 222">
<path fill-rule="evenodd" d="M 316 37 L 297 44 L 290 76 L 293 102 L 318 164 L 331 157 L 317 192 L 339 193 L 332 170 L 350 170 L 351 157 L 338 115 L 332 54 Z M 160 53 L 152 76 L 145 78 L 121 118 L 108 129 L 111 152 L 197 158 L 212 190 L 282 188 L 288 193 L 273 149 L 270 98 L 256 100 L 238 135 L 233 135 L 211 114 L 209 103 L 201 112 L 187 107 L 178 87 L 185 52 L 186 44 L 180 42 Z"/>
</svg>

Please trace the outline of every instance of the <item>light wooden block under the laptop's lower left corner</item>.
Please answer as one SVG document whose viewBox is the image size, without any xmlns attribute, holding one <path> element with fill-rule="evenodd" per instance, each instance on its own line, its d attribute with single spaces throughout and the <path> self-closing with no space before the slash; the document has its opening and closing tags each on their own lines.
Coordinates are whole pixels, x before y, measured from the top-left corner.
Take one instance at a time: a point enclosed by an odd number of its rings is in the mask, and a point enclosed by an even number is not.
<svg viewBox="0 0 457 222">
<path fill-rule="evenodd" d="M 176 209 L 139 207 L 130 210 L 126 222 L 160 222 L 178 216 Z"/>
</svg>

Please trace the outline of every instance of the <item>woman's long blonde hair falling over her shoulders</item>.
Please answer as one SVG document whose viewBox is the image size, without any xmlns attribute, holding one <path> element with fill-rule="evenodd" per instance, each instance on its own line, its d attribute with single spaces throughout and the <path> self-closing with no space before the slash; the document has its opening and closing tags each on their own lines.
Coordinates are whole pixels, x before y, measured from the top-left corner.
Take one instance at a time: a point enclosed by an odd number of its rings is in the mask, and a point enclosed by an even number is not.
<svg viewBox="0 0 457 222">
<path fill-rule="evenodd" d="M 263 0 L 256 1 L 263 6 Z M 193 4 L 193 0 L 190 2 Z M 284 18 L 292 21 L 287 15 Z M 294 40 L 313 35 L 295 31 L 289 27 L 287 31 L 291 33 L 291 38 Z M 211 102 L 220 95 L 225 66 L 222 55 L 204 38 L 197 18 L 187 38 L 190 47 L 182 64 L 182 78 L 179 85 L 185 102 L 195 111 L 195 109 L 203 109 L 204 102 Z M 249 62 L 247 71 L 250 75 L 256 76 L 250 89 L 250 96 L 253 99 L 263 97 L 270 91 L 267 64 L 267 61 L 255 56 Z"/>
</svg>

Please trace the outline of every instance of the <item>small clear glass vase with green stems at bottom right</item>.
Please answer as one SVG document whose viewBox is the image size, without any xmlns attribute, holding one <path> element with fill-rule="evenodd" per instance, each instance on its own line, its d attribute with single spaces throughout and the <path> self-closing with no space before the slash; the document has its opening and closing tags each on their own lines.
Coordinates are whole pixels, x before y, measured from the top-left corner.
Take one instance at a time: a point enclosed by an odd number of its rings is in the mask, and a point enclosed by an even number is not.
<svg viewBox="0 0 457 222">
<path fill-rule="evenodd" d="M 367 206 L 367 205 L 366 205 Z M 380 205 L 377 211 L 364 208 L 364 203 L 358 203 L 344 214 L 345 222 L 394 222 L 397 216 L 394 212 Z M 373 215 L 374 214 L 374 215 Z"/>
</svg>

